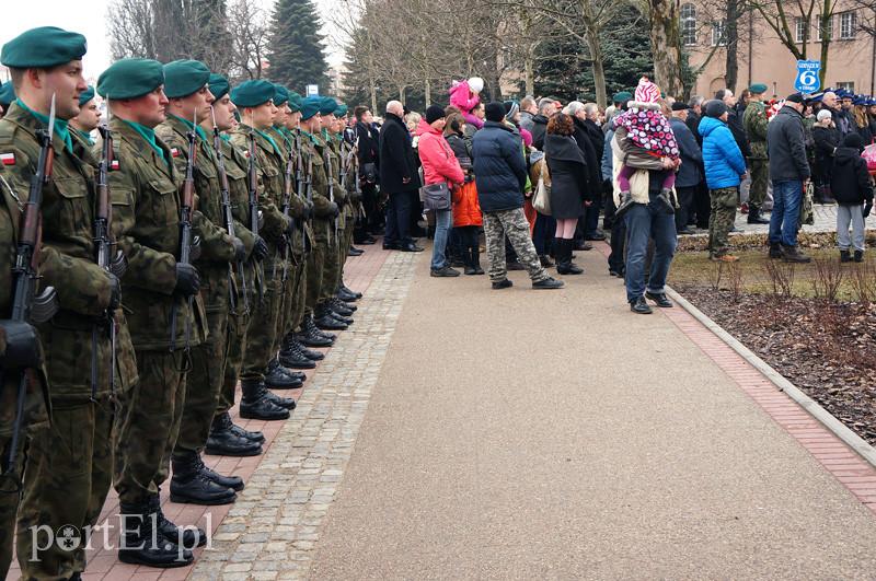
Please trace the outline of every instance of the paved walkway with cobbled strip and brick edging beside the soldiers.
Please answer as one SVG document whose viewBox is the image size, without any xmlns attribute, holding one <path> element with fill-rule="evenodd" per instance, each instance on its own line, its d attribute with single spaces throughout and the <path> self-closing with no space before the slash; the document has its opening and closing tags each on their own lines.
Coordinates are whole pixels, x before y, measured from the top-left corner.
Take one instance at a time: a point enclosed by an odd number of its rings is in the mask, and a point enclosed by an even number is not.
<svg viewBox="0 0 876 581">
<path fill-rule="evenodd" d="M 266 454 L 208 457 L 239 501 L 165 502 L 211 548 L 84 579 L 873 578 L 876 470 L 685 312 L 631 314 L 603 260 L 498 292 L 369 247 L 292 418 L 249 423 Z"/>
</svg>

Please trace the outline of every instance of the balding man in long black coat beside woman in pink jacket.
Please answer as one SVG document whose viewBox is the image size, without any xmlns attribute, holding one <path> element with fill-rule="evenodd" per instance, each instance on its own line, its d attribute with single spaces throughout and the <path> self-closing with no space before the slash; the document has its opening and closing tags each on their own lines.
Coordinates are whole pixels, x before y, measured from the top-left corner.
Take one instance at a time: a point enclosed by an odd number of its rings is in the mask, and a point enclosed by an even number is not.
<svg viewBox="0 0 876 581">
<path fill-rule="evenodd" d="M 423 247 L 411 239 L 411 217 L 420 183 L 416 153 L 403 115 L 404 106 L 397 101 L 390 101 L 387 103 L 387 118 L 380 128 L 380 187 L 389 194 L 383 248 L 423 252 Z"/>
</svg>

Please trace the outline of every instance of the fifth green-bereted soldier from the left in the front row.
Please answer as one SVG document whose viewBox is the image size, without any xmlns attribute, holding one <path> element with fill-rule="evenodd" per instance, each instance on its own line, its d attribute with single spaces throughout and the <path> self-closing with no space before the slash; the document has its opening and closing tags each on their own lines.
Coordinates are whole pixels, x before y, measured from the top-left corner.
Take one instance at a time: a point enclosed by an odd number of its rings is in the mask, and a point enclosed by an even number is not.
<svg viewBox="0 0 876 581">
<path fill-rule="evenodd" d="M 264 226 L 258 231 L 268 246 L 262 263 L 263 297 L 252 305 L 250 333 L 241 371 L 240 415 L 243 418 L 283 420 L 295 408 L 295 399 L 279 397 L 267 390 L 265 372 L 276 352 L 277 317 L 283 305 L 283 259 L 278 249 L 292 229 L 292 221 L 279 210 L 283 204 L 283 150 L 270 136 L 277 115 L 275 86 L 267 81 L 246 81 L 231 91 L 231 101 L 241 114 L 240 126 L 231 132 L 231 142 L 246 152 L 247 170 L 252 163 L 257 175 L 258 210 Z M 292 380 L 289 380 L 292 382 Z M 300 386 L 301 383 L 295 382 Z"/>
</svg>

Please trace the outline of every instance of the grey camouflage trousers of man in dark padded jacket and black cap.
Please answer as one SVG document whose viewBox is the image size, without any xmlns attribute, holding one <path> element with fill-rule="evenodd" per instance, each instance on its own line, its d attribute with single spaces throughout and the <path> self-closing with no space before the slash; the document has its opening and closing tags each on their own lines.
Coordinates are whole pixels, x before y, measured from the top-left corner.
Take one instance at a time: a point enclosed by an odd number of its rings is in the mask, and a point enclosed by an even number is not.
<svg viewBox="0 0 876 581">
<path fill-rule="evenodd" d="M 520 264 L 529 272 L 532 282 L 545 280 L 550 275 L 544 270 L 535 253 L 535 246 L 529 235 L 529 222 L 522 208 L 484 212 L 484 234 L 486 235 L 486 255 L 489 260 L 489 280 L 497 282 L 507 277 L 505 264 L 505 237 L 511 243 Z"/>
</svg>

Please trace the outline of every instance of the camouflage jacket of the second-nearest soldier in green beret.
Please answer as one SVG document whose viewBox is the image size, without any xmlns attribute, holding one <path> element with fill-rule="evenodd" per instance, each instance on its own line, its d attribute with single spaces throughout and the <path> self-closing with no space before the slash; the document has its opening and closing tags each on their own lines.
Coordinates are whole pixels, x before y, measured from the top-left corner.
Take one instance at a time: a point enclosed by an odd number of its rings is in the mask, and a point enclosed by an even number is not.
<svg viewBox="0 0 876 581">
<path fill-rule="evenodd" d="M 174 293 L 181 208 L 171 150 L 157 138 L 163 152 L 159 155 L 134 126 L 118 117 L 113 117 L 110 128 L 117 161 L 110 172 L 113 231 L 128 259 L 123 305 L 134 346 L 141 350 L 182 349 L 186 322 L 192 325 L 189 345 L 197 345 L 207 334 L 200 297 L 189 311 L 188 302 Z M 99 142 L 95 150 L 100 147 Z M 171 340 L 174 304 L 176 333 Z"/>
</svg>

